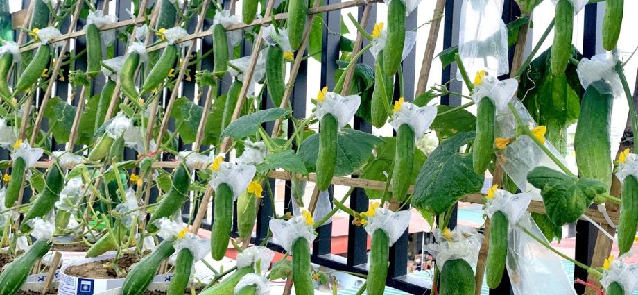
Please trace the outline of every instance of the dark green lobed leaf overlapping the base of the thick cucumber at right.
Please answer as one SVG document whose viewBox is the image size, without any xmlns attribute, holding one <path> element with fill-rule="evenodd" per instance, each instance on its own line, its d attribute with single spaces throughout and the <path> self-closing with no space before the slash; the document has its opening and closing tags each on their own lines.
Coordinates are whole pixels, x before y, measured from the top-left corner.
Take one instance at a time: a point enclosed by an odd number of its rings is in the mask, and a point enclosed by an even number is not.
<svg viewBox="0 0 638 295">
<path fill-rule="evenodd" d="M 544 166 L 529 171 L 527 181 L 540 189 L 547 216 L 557 226 L 576 222 L 594 197 L 607 191 L 601 180 L 579 179 Z"/>
</svg>

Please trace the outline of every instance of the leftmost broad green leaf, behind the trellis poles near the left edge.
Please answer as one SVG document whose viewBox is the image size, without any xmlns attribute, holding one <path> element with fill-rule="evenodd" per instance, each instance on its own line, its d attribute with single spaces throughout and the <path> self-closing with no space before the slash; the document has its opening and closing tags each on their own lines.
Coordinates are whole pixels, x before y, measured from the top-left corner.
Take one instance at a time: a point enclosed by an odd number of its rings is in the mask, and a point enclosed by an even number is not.
<svg viewBox="0 0 638 295">
<path fill-rule="evenodd" d="M 55 141 L 59 144 L 69 141 L 76 109 L 76 107 L 62 101 L 60 97 L 53 97 L 46 104 L 44 117 L 49 119 L 49 128 L 52 130 Z"/>
</svg>

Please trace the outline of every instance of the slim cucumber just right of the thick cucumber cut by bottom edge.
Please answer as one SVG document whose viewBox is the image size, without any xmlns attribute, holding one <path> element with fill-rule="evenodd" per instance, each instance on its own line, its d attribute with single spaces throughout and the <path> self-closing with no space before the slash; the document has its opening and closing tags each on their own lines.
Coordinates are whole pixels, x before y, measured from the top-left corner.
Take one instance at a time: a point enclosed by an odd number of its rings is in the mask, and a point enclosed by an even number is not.
<svg viewBox="0 0 638 295">
<path fill-rule="evenodd" d="M 490 228 L 490 248 L 488 250 L 488 260 L 486 264 L 486 276 L 488 287 L 496 289 L 501 285 L 505 260 L 508 255 L 508 217 L 501 211 L 492 214 L 492 225 Z"/>
</svg>

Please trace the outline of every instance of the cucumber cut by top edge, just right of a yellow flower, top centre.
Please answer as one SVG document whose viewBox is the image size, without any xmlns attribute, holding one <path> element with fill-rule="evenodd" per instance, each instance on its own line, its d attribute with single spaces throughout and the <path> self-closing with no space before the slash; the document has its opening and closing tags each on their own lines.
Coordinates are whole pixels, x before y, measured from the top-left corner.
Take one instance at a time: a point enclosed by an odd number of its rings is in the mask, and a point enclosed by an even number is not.
<svg viewBox="0 0 638 295">
<path fill-rule="evenodd" d="M 383 49 L 383 71 L 394 76 L 401 66 L 403 46 L 406 42 L 406 6 L 403 1 L 388 4 L 388 38 Z"/>
</svg>

